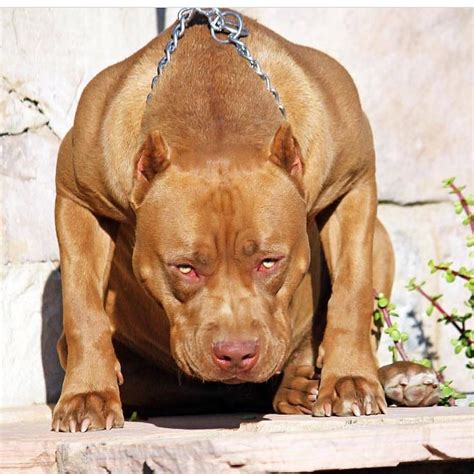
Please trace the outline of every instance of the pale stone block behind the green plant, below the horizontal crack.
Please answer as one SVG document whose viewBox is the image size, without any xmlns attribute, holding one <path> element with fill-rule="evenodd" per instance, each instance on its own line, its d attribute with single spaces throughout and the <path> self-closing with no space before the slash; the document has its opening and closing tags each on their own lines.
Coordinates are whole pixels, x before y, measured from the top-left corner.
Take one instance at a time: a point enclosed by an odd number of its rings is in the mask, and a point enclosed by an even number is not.
<svg viewBox="0 0 474 474">
<path fill-rule="evenodd" d="M 416 292 L 409 292 L 405 285 L 415 277 L 425 281 L 424 289 L 429 294 L 443 293 L 441 300 L 445 309 L 462 310 L 469 292 L 463 284 L 449 284 L 442 274 L 431 275 L 427 262 L 454 262 L 454 267 L 469 268 L 469 249 L 466 247 L 468 227 L 462 224 L 463 218 L 454 212 L 450 203 L 427 204 L 423 206 L 380 205 L 378 216 L 385 225 L 395 250 L 395 282 L 392 301 L 397 305 L 400 328 L 410 335 L 405 346 L 408 353 L 417 359 L 433 358 L 436 366 L 447 365 L 448 380 L 455 381 L 458 390 L 472 390 L 472 379 L 469 369 L 465 367 L 464 356 L 454 353 L 451 338 L 458 333 L 451 325 L 437 322 L 437 315 L 428 317 L 425 310 L 426 300 Z M 422 324 L 420 324 L 422 322 Z M 382 364 L 391 362 L 387 350 L 390 340 L 382 336 L 379 347 L 379 361 Z"/>
</svg>

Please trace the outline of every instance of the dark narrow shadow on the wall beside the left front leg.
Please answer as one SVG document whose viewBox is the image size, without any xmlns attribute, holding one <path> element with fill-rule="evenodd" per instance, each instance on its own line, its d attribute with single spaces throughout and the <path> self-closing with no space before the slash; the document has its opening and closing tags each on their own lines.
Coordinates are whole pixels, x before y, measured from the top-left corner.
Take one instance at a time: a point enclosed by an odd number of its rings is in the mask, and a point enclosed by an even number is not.
<svg viewBox="0 0 474 474">
<path fill-rule="evenodd" d="M 56 343 L 63 330 L 61 271 L 54 270 L 46 280 L 41 304 L 41 359 L 46 384 L 46 402 L 56 403 L 61 394 L 64 372 L 59 364 Z"/>
</svg>

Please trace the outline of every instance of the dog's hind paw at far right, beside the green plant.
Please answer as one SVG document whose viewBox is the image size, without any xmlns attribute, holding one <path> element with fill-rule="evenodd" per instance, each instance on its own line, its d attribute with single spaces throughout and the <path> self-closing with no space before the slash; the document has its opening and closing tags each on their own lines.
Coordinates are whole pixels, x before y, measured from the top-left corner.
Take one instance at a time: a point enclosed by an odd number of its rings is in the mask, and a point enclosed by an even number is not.
<svg viewBox="0 0 474 474">
<path fill-rule="evenodd" d="M 379 379 L 387 398 L 397 405 L 426 407 L 439 402 L 436 373 L 423 365 L 395 362 L 379 369 Z"/>
</svg>

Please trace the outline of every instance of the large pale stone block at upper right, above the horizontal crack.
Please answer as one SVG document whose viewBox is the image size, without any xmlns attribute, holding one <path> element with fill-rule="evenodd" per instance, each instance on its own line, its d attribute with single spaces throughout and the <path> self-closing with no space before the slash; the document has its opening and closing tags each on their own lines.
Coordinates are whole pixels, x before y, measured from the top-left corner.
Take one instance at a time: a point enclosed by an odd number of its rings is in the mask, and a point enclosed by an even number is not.
<svg viewBox="0 0 474 474">
<path fill-rule="evenodd" d="M 442 179 L 472 181 L 472 9 L 242 12 L 349 71 L 372 125 L 380 199 L 444 201 Z"/>
</svg>

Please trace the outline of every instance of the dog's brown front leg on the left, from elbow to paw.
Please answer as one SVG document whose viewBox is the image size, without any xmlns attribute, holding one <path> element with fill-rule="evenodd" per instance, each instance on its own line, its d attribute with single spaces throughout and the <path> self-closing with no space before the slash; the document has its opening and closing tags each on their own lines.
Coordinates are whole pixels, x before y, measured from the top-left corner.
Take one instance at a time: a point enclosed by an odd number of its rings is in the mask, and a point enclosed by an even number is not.
<svg viewBox="0 0 474 474">
<path fill-rule="evenodd" d="M 64 340 L 58 348 L 66 375 L 53 412 L 55 431 L 123 426 L 120 365 L 112 346 L 104 293 L 114 242 L 88 209 L 58 196 Z"/>
</svg>

